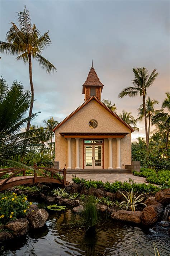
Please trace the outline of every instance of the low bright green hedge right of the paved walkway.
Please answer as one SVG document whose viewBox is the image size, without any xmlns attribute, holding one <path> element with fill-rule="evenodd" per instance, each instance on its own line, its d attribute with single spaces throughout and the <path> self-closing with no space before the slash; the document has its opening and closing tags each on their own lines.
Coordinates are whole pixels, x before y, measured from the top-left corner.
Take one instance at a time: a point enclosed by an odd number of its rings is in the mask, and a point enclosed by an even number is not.
<svg viewBox="0 0 170 256">
<path fill-rule="evenodd" d="M 170 186 L 170 170 L 155 171 L 148 168 L 141 168 L 141 172 L 133 171 L 133 175 L 146 178 L 148 183 Z"/>
</svg>

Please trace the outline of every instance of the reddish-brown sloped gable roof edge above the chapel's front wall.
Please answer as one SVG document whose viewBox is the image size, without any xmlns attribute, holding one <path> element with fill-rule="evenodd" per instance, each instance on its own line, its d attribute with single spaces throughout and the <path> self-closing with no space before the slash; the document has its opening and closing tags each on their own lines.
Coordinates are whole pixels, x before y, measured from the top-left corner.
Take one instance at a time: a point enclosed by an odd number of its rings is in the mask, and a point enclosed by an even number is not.
<svg viewBox="0 0 170 256">
<path fill-rule="evenodd" d="M 130 125 L 128 125 L 128 123 L 124 122 L 121 117 L 119 117 L 116 113 L 114 113 L 110 108 L 108 108 L 103 102 L 101 102 L 101 100 L 97 99 L 95 96 L 92 96 L 90 99 L 86 100 L 86 102 L 84 102 L 82 105 L 80 105 L 80 107 L 78 107 L 74 112 L 72 112 L 69 116 L 67 116 L 63 121 L 58 123 L 58 125 L 53 129 L 53 131 L 58 129 L 58 127 L 60 127 L 63 123 L 65 123 L 67 120 L 69 120 L 72 116 L 74 116 L 74 114 L 76 114 L 81 108 L 83 108 L 86 104 L 88 104 L 93 99 L 96 100 L 96 102 L 98 102 L 107 111 L 109 111 L 121 123 L 123 123 L 126 127 L 128 127 L 132 132 L 134 131 L 134 129 Z"/>
</svg>

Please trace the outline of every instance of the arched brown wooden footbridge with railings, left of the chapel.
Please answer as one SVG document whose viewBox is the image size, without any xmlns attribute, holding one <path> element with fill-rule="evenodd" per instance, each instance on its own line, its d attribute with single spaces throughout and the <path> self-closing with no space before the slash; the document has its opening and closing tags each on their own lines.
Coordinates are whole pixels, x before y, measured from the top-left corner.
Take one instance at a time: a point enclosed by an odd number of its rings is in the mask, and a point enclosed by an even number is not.
<svg viewBox="0 0 170 256">
<path fill-rule="evenodd" d="M 66 169 L 58 170 L 53 168 L 46 168 L 46 167 L 38 167 L 37 164 L 33 166 L 34 174 L 26 175 L 26 169 L 17 169 L 16 167 L 13 168 L 6 168 L 0 170 L 0 191 L 5 190 L 7 188 L 12 188 L 18 185 L 24 185 L 29 183 L 56 183 L 62 186 L 69 184 L 66 181 Z M 42 170 L 42 171 L 41 171 Z M 44 172 L 47 171 L 47 173 Z M 50 172 L 50 176 L 48 175 Z M 63 179 L 61 179 L 59 172 L 62 172 Z M 1 179 L 1 177 L 5 174 L 12 173 L 8 178 Z M 23 173 L 23 176 L 16 176 L 17 174 Z M 43 176 L 38 176 L 39 174 Z M 53 176 L 56 176 L 54 178 Z"/>
</svg>

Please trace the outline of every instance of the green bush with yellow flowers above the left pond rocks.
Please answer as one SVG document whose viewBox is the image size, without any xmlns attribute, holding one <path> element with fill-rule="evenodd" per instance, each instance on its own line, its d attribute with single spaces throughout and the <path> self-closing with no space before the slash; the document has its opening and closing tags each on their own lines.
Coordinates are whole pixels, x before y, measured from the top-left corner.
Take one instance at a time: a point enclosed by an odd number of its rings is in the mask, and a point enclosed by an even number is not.
<svg viewBox="0 0 170 256">
<path fill-rule="evenodd" d="M 16 193 L 10 192 L 0 193 L 0 223 L 25 217 L 31 205 L 32 202 L 28 202 L 27 196 L 17 196 Z"/>
</svg>

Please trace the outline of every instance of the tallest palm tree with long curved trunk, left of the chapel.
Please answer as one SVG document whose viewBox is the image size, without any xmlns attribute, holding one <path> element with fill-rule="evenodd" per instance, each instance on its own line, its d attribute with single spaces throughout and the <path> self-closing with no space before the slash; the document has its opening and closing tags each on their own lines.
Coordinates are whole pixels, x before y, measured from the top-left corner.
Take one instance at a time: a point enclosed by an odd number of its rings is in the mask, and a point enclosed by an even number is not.
<svg viewBox="0 0 170 256">
<path fill-rule="evenodd" d="M 44 48 L 51 44 L 48 31 L 41 35 L 35 24 L 31 24 L 29 10 L 24 6 L 23 12 L 17 12 L 19 28 L 14 22 L 6 33 L 6 41 L 0 41 L 0 50 L 2 53 L 18 55 L 17 60 L 29 63 L 29 81 L 31 87 L 31 103 L 29 109 L 29 117 L 32 115 L 34 103 L 34 86 L 32 80 L 32 58 L 39 62 L 39 65 L 46 69 L 47 73 L 56 71 L 55 66 L 45 59 L 41 53 Z M 27 131 L 30 127 L 30 118 L 27 123 Z"/>
</svg>

